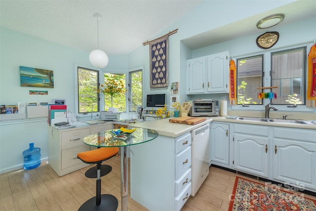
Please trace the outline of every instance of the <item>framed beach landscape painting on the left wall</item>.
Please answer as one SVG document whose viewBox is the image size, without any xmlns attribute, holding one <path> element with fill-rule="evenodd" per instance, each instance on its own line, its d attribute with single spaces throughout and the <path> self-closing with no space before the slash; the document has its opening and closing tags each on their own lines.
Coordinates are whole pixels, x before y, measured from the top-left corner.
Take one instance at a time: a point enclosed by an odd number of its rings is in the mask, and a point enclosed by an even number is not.
<svg viewBox="0 0 316 211">
<path fill-rule="evenodd" d="M 43 70 L 20 66 L 21 86 L 54 88 L 54 74 L 52 70 Z"/>
</svg>

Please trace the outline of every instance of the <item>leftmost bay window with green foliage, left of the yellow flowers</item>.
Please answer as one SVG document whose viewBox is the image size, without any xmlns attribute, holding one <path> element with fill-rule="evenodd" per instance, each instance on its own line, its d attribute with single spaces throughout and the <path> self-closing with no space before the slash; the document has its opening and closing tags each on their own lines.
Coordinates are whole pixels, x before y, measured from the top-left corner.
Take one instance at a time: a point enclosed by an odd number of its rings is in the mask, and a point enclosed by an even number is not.
<svg viewBox="0 0 316 211">
<path fill-rule="evenodd" d="M 79 113 L 99 111 L 99 71 L 78 67 L 78 111 Z"/>
</svg>

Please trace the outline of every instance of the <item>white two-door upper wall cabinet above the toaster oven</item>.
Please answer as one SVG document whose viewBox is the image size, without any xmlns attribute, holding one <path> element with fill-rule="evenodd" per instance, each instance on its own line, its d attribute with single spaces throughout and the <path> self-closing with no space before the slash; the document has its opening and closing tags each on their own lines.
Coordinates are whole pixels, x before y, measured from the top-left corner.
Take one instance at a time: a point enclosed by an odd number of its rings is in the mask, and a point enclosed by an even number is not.
<svg viewBox="0 0 316 211">
<path fill-rule="evenodd" d="M 187 94 L 228 93 L 229 52 L 187 60 Z"/>
</svg>

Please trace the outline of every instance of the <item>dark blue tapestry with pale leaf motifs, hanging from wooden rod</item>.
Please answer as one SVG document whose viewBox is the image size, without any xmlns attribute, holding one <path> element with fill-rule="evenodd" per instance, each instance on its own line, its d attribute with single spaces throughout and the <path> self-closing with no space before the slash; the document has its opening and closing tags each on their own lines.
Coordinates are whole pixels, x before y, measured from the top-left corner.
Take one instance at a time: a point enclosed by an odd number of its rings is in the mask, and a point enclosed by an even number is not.
<svg viewBox="0 0 316 211">
<path fill-rule="evenodd" d="M 143 43 L 149 44 L 151 90 L 168 88 L 168 36 L 177 33 L 177 30 Z"/>
</svg>

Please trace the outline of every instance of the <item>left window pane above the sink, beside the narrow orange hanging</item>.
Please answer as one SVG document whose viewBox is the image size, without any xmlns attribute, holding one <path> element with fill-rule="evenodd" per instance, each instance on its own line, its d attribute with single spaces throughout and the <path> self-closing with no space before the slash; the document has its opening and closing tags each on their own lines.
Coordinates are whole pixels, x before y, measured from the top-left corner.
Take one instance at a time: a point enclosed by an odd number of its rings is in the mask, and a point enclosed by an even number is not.
<svg viewBox="0 0 316 211">
<path fill-rule="evenodd" d="M 237 59 L 237 104 L 262 104 L 256 91 L 262 86 L 262 73 L 263 55 Z"/>
</svg>

